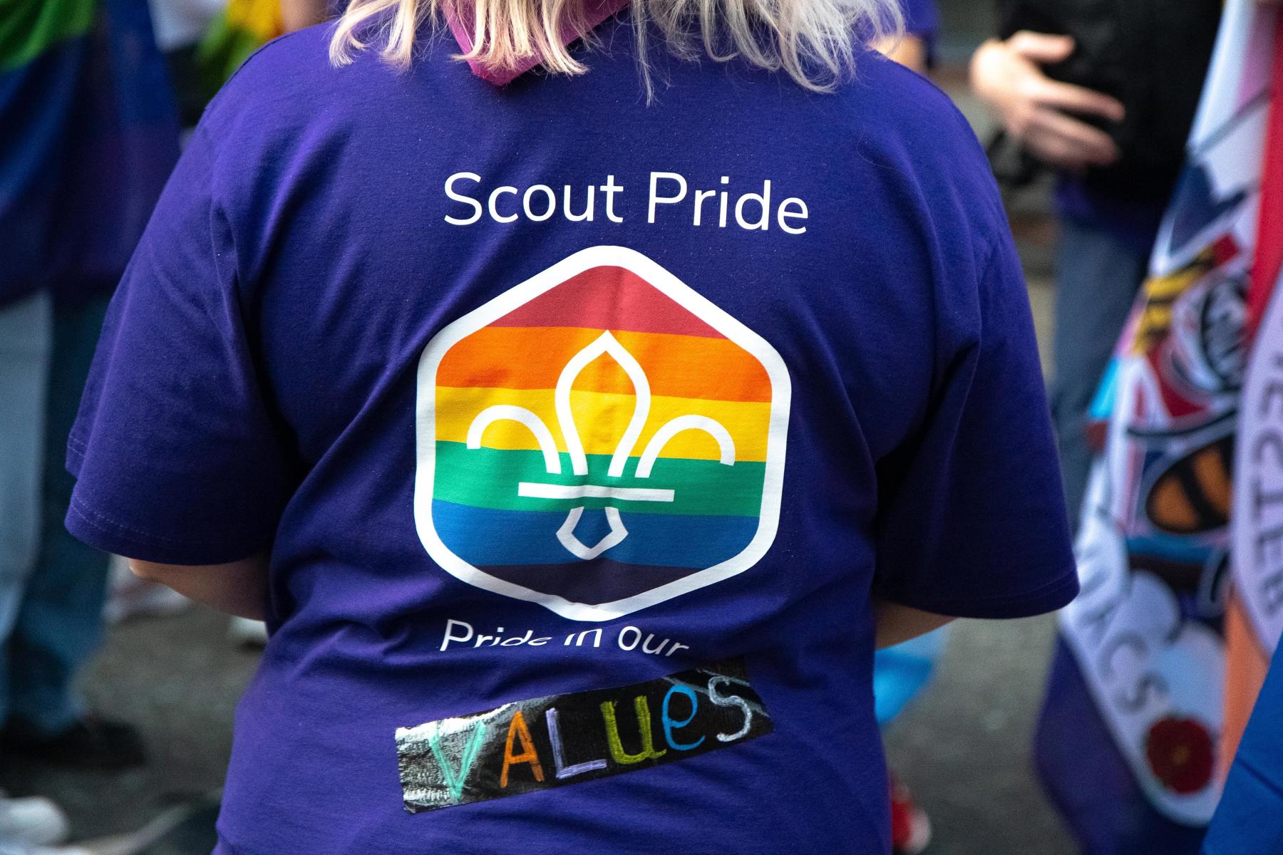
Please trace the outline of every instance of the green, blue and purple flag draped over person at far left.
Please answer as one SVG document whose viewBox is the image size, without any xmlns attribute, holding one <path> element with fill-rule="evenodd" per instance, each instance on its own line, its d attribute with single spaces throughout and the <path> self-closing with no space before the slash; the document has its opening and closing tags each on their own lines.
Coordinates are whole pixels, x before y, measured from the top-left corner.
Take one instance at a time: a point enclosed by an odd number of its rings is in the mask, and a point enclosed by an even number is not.
<svg viewBox="0 0 1283 855">
<path fill-rule="evenodd" d="M 177 155 L 146 0 L 0 1 L 0 304 L 113 286 Z"/>
</svg>

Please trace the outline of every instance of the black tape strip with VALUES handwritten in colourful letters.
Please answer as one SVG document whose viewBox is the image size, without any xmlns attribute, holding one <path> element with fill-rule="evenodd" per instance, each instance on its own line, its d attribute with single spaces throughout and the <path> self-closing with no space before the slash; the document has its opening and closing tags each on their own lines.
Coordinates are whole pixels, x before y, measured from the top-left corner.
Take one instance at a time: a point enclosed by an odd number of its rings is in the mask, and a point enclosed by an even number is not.
<svg viewBox="0 0 1283 855">
<path fill-rule="evenodd" d="M 743 660 L 396 729 L 420 813 L 638 772 L 770 733 Z"/>
</svg>

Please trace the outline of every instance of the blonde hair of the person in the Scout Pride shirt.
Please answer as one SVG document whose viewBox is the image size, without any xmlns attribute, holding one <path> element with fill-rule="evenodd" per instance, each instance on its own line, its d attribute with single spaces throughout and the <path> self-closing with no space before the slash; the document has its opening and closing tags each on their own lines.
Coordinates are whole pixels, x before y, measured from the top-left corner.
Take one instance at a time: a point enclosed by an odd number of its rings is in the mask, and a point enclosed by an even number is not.
<svg viewBox="0 0 1283 855">
<path fill-rule="evenodd" d="M 549 72 L 588 71 L 566 49 L 561 33 L 590 38 L 584 0 L 349 0 L 330 40 L 330 60 L 346 65 L 370 41 L 398 68 L 408 68 L 414 40 L 426 22 L 438 26 L 449 9 L 471 24 L 472 50 L 457 59 L 485 68 L 511 68 L 538 59 Z M 653 22 L 668 50 L 681 59 L 742 58 L 783 71 L 798 85 L 831 91 L 854 69 L 857 38 L 872 44 L 898 38 L 898 0 L 633 0 L 638 55 L 648 97 L 645 35 Z"/>
</svg>

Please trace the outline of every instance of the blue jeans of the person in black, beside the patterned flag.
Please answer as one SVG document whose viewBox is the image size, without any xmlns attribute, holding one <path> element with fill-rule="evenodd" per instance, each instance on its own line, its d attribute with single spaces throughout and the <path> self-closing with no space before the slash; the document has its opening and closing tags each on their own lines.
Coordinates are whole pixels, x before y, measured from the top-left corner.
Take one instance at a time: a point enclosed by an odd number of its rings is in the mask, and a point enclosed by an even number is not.
<svg viewBox="0 0 1283 855">
<path fill-rule="evenodd" d="M 1105 226 L 1060 219 L 1051 409 L 1065 505 L 1075 529 L 1092 464 L 1088 410 L 1144 281 L 1148 259 L 1148 250 Z"/>
</svg>

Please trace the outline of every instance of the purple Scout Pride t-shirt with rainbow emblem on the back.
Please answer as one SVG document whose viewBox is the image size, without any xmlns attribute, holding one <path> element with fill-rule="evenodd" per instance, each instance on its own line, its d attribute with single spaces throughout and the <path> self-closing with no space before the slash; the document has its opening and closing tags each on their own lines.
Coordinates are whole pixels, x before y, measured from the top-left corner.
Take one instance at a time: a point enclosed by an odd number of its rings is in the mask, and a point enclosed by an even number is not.
<svg viewBox="0 0 1283 855">
<path fill-rule="evenodd" d="M 1024 282 L 948 99 L 607 22 L 499 88 L 328 29 L 214 100 L 115 296 L 83 540 L 271 550 L 219 852 L 875 852 L 875 595 L 1076 591 Z"/>
</svg>

